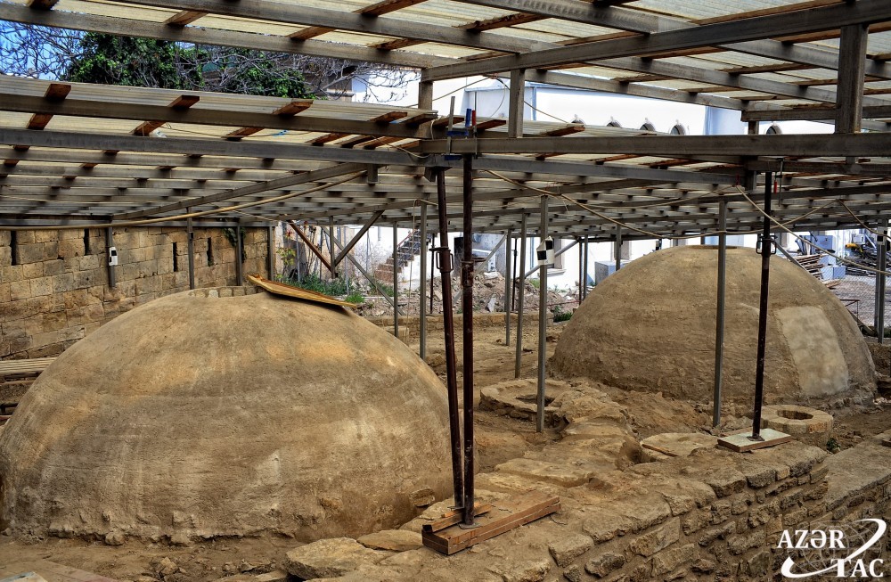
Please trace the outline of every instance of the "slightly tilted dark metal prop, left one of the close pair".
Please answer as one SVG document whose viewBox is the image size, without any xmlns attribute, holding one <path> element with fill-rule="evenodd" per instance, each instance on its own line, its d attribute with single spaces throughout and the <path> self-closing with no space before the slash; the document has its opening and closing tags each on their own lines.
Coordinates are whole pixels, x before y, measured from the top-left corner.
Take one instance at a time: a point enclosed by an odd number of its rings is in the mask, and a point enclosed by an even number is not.
<svg viewBox="0 0 891 582">
<path fill-rule="evenodd" d="M 443 332 L 446 336 L 446 392 L 448 396 L 448 428 L 452 445 L 452 484 L 454 505 L 464 503 L 464 473 L 461 458 L 461 424 L 458 420 L 458 376 L 454 358 L 454 316 L 452 309 L 452 253 L 448 249 L 448 217 L 446 215 L 446 170 L 437 169 L 439 206 L 439 246 L 432 249 L 439 266 L 443 287 Z M 432 277 L 430 277 L 432 280 Z"/>
</svg>

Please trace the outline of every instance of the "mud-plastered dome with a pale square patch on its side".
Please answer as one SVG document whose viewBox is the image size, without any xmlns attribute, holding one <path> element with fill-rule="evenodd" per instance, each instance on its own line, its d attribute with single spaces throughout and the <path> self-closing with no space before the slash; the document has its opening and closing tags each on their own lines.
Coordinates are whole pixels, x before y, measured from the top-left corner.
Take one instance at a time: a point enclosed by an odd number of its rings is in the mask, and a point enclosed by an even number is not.
<svg viewBox="0 0 891 582">
<path fill-rule="evenodd" d="M 675 247 L 625 266 L 584 300 L 557 343 L 552 370 L 618 388 L 712 399 L 715 247 Z M 751 401 L 761 257 L 727 250 L 723 397 Z M 771 258 L 767 402 L 871 396 L 875 371 L 854 318 L 803 269 Z"/>
</svg>

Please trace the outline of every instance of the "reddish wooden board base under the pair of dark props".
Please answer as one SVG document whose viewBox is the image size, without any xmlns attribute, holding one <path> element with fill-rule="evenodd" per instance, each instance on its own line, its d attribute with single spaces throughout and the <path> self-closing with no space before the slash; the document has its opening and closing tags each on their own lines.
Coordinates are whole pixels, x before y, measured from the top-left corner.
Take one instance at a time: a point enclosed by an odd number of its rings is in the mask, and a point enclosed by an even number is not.
<svg viewBox="0 0 891 582">
<path fill-rule="evenodd" d="M 432 527 L 425 526 L 421 531 L 421 539 L 427 547 L 451 555 L 559 511 L 560 497 L 529 491 L 493 502 L 489 511 L 476 518 L 474 528 L 462 529 L 460 524 L 454 524 L 433 531 Z"/>
</svg>

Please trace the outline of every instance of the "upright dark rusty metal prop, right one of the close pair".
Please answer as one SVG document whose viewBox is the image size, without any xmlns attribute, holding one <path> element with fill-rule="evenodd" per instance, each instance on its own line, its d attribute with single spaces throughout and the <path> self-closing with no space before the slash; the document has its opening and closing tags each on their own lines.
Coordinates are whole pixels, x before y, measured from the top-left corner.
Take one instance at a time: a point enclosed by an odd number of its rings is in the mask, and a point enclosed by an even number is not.
<svg viewBox="0 0 891 582">
<path fill-rule="evenodd" d="M 464 156 L 462 190 L 464 256 L 461 261 L 462 323 L 464 328 L 464 525 L 473 524 L 473 158 Z"/>
</svg>

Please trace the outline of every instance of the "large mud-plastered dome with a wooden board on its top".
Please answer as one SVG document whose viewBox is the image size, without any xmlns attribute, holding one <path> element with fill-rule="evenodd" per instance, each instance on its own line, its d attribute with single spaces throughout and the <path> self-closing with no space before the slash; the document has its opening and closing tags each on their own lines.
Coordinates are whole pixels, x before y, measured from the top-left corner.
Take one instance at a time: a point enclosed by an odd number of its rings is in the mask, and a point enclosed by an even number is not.
<svg viewBox="0 0 891 582">
<path fill-rule="evenodd" d="M 355 537 L 446 496 L 445 389 L 400 341 L 339 307 L 207 295 L 137 307 L 47 368 L 0 434 L 3 527 Z"/>
</svg>

